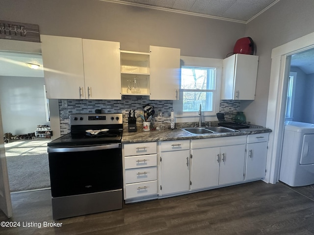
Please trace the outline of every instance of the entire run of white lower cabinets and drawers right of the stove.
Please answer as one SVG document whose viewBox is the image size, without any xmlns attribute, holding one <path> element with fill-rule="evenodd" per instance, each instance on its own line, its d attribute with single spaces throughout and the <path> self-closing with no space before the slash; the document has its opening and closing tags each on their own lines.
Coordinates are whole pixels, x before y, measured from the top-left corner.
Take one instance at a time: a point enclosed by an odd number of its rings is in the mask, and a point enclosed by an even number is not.
<svg viewBox="0 0 314 235">
<path fill-rule="evenodd" d="M 123 144 L 124 199 L 143 201 L 262 179 L 268 136 Z"/>
</svg>

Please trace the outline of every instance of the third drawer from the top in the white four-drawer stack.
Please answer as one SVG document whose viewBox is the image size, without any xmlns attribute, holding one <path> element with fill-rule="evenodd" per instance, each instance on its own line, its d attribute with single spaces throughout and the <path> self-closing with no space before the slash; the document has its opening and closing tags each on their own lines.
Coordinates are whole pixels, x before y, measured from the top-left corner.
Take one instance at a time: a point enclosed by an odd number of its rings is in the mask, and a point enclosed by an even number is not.
<svg viewBox="0 0 314 235">
<path fill-rule="evenodd" d="M 125 170 L 126 184 L 157 180 L 157 166 Z"/>
</svg>

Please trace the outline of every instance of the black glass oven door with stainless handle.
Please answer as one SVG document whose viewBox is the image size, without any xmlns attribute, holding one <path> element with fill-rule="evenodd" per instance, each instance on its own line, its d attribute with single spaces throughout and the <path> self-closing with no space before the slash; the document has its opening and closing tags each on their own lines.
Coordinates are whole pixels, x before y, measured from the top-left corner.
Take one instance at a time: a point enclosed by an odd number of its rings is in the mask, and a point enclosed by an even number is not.
<svg viewBox="0 0 314 235">
<path fill-rule="evenodd" d="M 49 147 L 52 197 L 122 189 L 121 143 Z"/>
</svg>

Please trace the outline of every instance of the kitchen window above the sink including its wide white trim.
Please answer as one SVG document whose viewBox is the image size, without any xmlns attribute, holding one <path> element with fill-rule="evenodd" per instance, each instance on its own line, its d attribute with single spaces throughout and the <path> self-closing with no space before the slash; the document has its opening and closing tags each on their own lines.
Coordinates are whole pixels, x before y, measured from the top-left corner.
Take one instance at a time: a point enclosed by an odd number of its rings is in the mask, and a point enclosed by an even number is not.
<svg viewBox="0 0 314 235">
<path fill-rule="evenodd" d="M 173 102 L 176 122 L 195 121 L 200 104 L 204 121 L 217 120 L 222 62 L 222 59 L 181 56 L 179 100 Z"/>
</svg>

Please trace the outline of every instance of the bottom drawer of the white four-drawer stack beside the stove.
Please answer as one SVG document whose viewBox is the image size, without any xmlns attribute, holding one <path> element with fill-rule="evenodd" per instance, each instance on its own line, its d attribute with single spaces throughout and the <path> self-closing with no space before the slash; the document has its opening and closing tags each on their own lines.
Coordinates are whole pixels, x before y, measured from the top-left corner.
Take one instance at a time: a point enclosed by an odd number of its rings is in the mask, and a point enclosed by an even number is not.
<svg viewBox="0 0 314 235">
<path fill-rule="evenodd" d="M 157 180 L 126 185 L 126 198 L 157 194 Z"/>
</svg>

